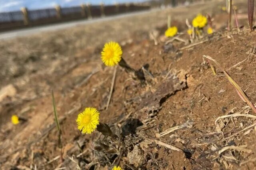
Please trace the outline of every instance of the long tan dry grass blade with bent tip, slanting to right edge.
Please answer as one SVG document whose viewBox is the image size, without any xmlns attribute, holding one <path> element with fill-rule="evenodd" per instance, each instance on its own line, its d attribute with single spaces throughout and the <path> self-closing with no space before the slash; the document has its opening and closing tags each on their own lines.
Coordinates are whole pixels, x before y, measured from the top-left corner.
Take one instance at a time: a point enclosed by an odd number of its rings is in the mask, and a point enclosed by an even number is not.
<svg viewBox="0 0 256 170">
<path fill-rule="evenodd" d="M 228 72 L 226 72 L 226 70 L 213 58 L 211 58 L 210 56 L 203 56 L 204 58 L 207 58 L 209 60 L 212 60 L 221 70 L 222 72 L 224 72 L 225 76 L 228 78 L 228 81 L 234 86 L 234 88 L 236 89 L 236 92 L 238 93 L 238 95 L 240 96 L 240 98 L 246 102 L 251 108 L 252 110 L 256 113 L 256 108 L 254 107 L 254 105 L 252 104 L 252 102 L 249 100 L 249 98 L 246 96 L 246 94 L 244 93 L 244 91 L 242 90 L 242 88 L 236 83 L 236 81 L 228 74 Z"/>
</svg>

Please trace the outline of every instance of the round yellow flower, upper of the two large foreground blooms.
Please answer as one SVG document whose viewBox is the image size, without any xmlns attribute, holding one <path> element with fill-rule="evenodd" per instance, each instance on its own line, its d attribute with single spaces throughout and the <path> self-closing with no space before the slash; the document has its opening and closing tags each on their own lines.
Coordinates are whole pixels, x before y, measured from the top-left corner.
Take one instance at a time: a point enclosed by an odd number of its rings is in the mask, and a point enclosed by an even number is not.
<svg viewBox="0 0 256 170">
<path fill-rule="evenodd" d="M 108 42 L 101 52 L 101 60 L 106 66 L 114 66 L 120 62 L 122 57 L 122 48 L 117 42 Z"/>
</svg>

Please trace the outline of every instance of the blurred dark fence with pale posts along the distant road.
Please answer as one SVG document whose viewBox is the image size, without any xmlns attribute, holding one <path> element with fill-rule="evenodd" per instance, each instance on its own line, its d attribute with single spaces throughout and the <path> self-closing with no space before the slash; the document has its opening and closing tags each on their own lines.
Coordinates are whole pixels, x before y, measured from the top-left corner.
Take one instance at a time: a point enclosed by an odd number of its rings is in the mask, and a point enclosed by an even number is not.
<svg viewBox="0 0 256 170">
<path fill-rule="evenodd" d="M 110 16 L 124 12 L 147 10 L 150 6 L 135 4 L 102 5 L 81 5 L 60 8 L 48 8 L 40 10 L 0 12 L 0 31 L 22 28 L 27 26 L 37 26 L 54 22 L 64 22 L 67 20 L 97 18 L 100 16 Z"/>
</svg>

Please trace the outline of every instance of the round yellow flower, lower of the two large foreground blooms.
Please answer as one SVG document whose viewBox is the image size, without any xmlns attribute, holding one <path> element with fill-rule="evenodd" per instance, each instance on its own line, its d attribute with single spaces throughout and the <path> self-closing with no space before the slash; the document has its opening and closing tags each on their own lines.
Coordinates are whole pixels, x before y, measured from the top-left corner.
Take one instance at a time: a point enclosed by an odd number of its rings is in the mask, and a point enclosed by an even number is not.
<svg viewBox="0 0 256 170">
<path fill-rule="evenodd" d="M 78 114 L 76 122 L 83 134 L 91 134 L 100 124 L 100 113 L 96 108 L 85 108 L 84 112 Z"/>
</svg>

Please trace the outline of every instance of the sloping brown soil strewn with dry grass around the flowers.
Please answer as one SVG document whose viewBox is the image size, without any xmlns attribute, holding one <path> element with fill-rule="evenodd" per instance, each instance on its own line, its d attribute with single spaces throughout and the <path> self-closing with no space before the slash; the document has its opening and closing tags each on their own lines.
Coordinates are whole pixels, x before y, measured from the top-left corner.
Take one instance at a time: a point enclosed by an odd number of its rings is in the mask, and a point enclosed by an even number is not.
<svg viewBox="0 0 256 170">
<path fill-rule="evenodd" d="M 251 53 L 256 46 L 256 33 L 249 32 L 247 25 L 239 33 L 236 29 L 222 29 L 227 14 L 220 10 L 221 6 L 214 2 L 214 6 L 197 4 L 171 11 L 175 16 L 172 24 L 178 25 L 180 32 L 185 32 L 185 18 L 198 12 L 212 14 L 214 26 L 219 29 L 197 40 L 202 44 L 184 50 L 179 49 L 189 44 L 174 41 L 173 48 L 165 45 L 167 39 L 162 34 L 169 9 L 1 42 L 0 62 L 5 65 L 1 68 L 0 85 L 13 84 L 17 89 L 16 95 L 5 98 L 0 105 L 1 169 L 34 170 L 36 166 L 40 170 L 75 170 L 79 166 L 107 170 L 114 164 L 125 170 L 255 169 L 255 127 L 222 141 L 254 124 L 255 119 L 224 118 L 218 121 L 222 132 L 214 124 L 219 116 L 255 113 L 244 108 L 247 105 L 219 68 L 217 76 L 212 74 L 203 55 L 211 56 L 226 68 L 256 103 L 256 54 Z M 246 5 L 240 4 L 239 8 L 238 16 L 243 18 Z M 240 23 L 246 22 L 241 19 Z M 149 32 L 157 35 L 157 45 Z M 180 37 L 189 39 L 186 34 Z M 100 51 L 110 39 L 121 42 L 123 58 L 130 66 L 138 70 L 148 64 L 146 72 L 154 78 L 146 76 L 147 85 L 142 86 L 117 67 L 106 110 L 115 68 L 102 64 Z M 63 160 L 51 89 L 62 129 Z M 107 123 L 123 141 L 116 154 L 93 152 L 92 141 L 115 145 L 99 132 L 82 135 L 77 130 L 76 116 L 85 107 L 98 108 L 100 121 Z M 12 114 L 26 121 L 14 126 L 9 121 Z M 185 127 L 156 138 L 156 134 L 180 125 Z M 182 151 L 172 150 L 159 141 Z M 226 146 L 246 150 L 218 154 Z M 244 162 L 247 160 L 251 161 Z"/>
</svg>

